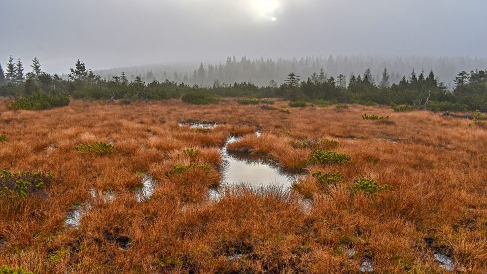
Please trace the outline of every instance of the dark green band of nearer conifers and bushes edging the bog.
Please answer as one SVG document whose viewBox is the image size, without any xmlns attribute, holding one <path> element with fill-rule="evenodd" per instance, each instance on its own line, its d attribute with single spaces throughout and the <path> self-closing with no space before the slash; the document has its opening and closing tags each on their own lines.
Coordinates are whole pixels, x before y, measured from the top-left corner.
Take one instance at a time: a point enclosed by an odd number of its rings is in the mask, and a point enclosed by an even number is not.
<svg viewBox="0 0 487 274">
<path fill-rule="evenodd" d="M 129 81 L 124 72 L 111 79 L 102 79 L 91 70 L 87 70 L 82 61 L 71 68 L 68 79 L 42 72 L 40 62 L 34 58 L 32 71 L 23 73 L 20 59 L 17 62 L 9 58 L 6 73 L 0 67 L 1 96 L 43 97 L 44 93 L 52 98 L 52 107 L 66 104 L 66 96 L 77 99 L 120 100 L 130 102 L 139 99 L 183 98 L 196 104 L 209 104 L 218 97 L 282 97 L 293 101 L 310 101 L 326 105 L 335 102 L 349 102 L 365 105 L 409 105 L 411 108 L 427 108 L 435 111 L 487 111 L 487 72 L 461 72 L 455 79 L 455 88 L 449 90 L 439 82 L 433 71 L 403 76 L 399 83 L 391 84 L 391 75 L 387 68 L 379 77 L 374 77 L 369 69 L 361 75 L 338 75 L 328 77 L 321 69 L 301 80 L 295 73 L 289 74 L 282 85 L 274 80 L 266 86 L 257 86 L 250 82 L 232 85 L 215 80 L 210 87 L 188 85 L 169 80 L 145 83 L 141 77 Z M 380 81 L 379 79 L 380 78 Z M 25 101 L 25 98 L 24 98 Z M 69 101 L 67 100 L 67 103 Z M 28 102 L 24 102 L 29 106 Z M 38 103 L 30 105 L 40 106 Z M 48 105 L 41 104 L 42 108 Z M 39 109 L 36 107 L 34 109 Z M 406 108 L 407 109 L 407 108 Z"/>
</svg>

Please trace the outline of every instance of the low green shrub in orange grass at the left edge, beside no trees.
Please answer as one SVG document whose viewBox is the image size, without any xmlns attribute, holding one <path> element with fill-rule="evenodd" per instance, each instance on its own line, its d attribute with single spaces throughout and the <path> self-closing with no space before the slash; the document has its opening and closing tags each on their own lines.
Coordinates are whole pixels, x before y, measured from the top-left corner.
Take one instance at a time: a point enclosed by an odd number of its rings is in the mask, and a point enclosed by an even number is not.
<svg viewBox="0 0 487 274">
<path fill-rule="evenodd" d="M 3 170 L 0 173 L 0 196 L 10 198 L 27 197 L 29 193 L 36 193 L 51 183 L 52 172 L 19 172 L 12 173 Z"/>
</svg>

